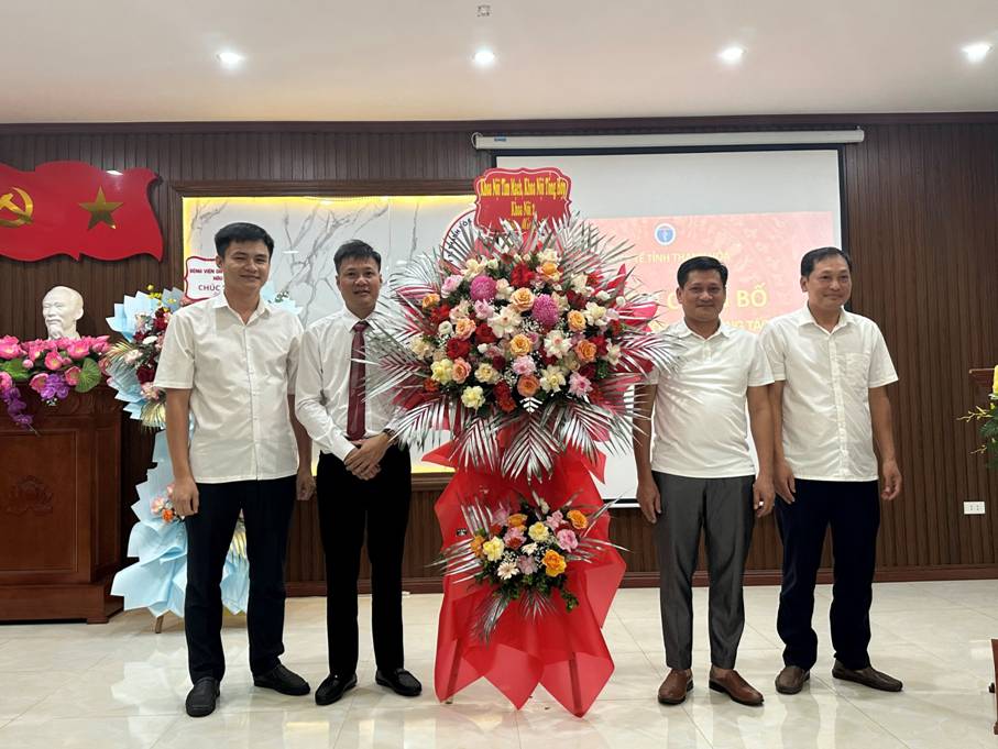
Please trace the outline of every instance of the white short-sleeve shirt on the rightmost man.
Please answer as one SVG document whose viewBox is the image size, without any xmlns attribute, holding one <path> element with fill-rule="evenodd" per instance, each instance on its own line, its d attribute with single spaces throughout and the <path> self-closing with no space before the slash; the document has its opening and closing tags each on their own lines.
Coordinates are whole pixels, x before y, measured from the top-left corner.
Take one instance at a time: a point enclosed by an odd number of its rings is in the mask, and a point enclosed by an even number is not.
<svg viewBox="0 0 998 749">
<path fill-rule="evenodd" d="M 831 332 L 803 309 L 763 329 L 772 376 L 783 381 L 783 455 L 797 478 L 876 481 L 869 390 L 897 382 L 880 329 L 842 310 Z"/>
</svg>

